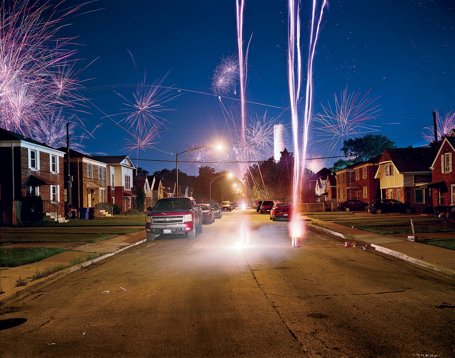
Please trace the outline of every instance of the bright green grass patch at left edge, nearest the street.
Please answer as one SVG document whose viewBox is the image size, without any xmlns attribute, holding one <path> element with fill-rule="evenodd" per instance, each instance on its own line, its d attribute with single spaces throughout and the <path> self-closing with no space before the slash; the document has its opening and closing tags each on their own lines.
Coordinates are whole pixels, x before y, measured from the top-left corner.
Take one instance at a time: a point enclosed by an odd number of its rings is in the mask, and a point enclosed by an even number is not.
<svg viewBox="0 0 455 358">
<path fill-rule="evenodd" d="M 1 247 L 0 266 L 17 267 L 31 264 L 65 251 L 59 247 Z"/>
</svg>

